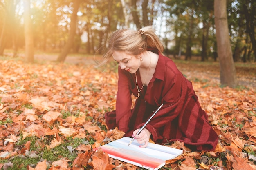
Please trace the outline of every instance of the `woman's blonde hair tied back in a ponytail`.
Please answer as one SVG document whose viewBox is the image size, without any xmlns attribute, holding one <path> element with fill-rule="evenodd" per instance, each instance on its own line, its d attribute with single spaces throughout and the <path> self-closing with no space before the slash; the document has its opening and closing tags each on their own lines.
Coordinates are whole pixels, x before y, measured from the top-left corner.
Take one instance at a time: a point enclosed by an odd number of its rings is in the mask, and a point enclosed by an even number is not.
<svg viewBox="0 0 256 170">
<path fill-rule="evenodd" d="M 139 31 L 133 29 L 116 30 L 109 36 L 107 44 L 106 53 L 103 54 L 102 61 L 96 66 L 106 64 L 114 51 L 122 51 L 135 56 L 143 53 L 147 48 L 156 48 L 160 53 L 164 51 L 164 46 L 152 26 L 146 26 Z"/>
</svg>

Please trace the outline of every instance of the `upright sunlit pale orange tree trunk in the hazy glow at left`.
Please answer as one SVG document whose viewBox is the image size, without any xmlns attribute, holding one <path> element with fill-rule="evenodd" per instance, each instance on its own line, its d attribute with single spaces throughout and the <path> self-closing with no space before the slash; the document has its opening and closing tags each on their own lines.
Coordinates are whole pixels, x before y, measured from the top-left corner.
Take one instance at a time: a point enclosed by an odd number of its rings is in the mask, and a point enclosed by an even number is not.
<svg viewBox="0 0 256 170">
<path fill-rule="evenodd" d="M 30 0 L 23 0 L 24 3 L 24 31 L 25 31 L 25 60 L 34 62 L 34 41 L 33 29 L 30 15 Z"/>
</svg>

